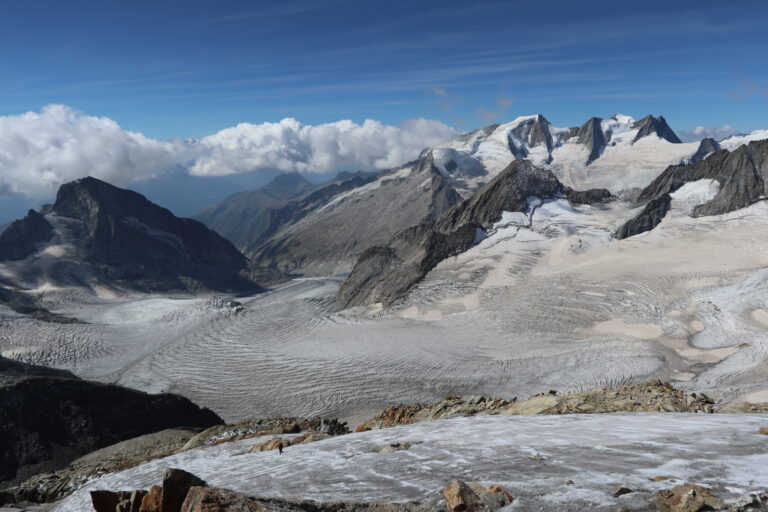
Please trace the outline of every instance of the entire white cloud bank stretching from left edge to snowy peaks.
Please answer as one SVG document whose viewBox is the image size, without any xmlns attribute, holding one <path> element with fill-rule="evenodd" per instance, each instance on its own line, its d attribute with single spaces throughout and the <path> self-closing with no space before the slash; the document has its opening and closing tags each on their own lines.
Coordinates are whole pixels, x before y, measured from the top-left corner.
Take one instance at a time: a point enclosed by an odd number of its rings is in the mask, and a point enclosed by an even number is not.
<svg viewBox="0 0 768 512">
<path fill-rule="evenodd" d="M 106 117 L 49 105 L 39 113 L 0 116 L 0 194 L 44 199 L 86 175 L 121 186 L 178 168 L 199 176 L 385 169 L 456 135 L 428 119 L 397 127 L 373 120 L 304 125 L 289 118 L 243 123 L 200 140 L 159 141 Z"/>
</svg>

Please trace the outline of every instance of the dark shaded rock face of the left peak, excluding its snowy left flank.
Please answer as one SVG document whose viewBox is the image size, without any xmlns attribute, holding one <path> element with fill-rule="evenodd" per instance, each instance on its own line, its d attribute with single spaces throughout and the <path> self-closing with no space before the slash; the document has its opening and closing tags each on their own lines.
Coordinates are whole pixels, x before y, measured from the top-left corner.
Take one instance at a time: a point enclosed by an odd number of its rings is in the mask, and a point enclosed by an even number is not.
<svg viewBox="0 0 768 512">
<path fill-rule="evenodd" d="M 249 262 L 200 222 L 95 178 L 66 183 L 51 214 L 80 222 L 84 260 L 106 279 L 144 290 L 254 287 Z"/>
</svg>

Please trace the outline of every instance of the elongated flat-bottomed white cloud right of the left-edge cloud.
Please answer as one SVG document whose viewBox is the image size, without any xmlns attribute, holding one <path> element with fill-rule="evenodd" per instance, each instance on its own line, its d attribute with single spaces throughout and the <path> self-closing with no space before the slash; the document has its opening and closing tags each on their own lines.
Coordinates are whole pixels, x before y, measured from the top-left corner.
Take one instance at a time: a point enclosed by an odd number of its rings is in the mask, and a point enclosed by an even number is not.
<svg viewBox="0 0 768 512">
<path fill-rule="evenodd" d="M 304 125 L 243 123 L 197 141 L 190 173 L 215 176 L 279 169 L 329 173 L 340 169 L 386 169 L 417 157 L 422 149 L 445 142 L 456 131 L 438 121 L 412 119 L 402 127 L 367 119 Z"/>
</svg>

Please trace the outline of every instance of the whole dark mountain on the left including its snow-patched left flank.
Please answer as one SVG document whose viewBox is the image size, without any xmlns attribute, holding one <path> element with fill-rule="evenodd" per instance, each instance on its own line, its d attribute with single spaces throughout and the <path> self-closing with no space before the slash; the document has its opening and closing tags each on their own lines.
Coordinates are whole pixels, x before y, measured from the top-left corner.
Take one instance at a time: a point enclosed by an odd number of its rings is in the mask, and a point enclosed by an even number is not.
<svg viewBox="0 0 768 512">
<path fill-rule="evenodd" d="M 246 290 L 276 274 L 253 267 L 203 224 L 95 178 L 62 185 L 42 214 L 30 212 L 3 232 L 3 261 L 20 287 L 95 279 L 143 291 Z"/>
</svg>

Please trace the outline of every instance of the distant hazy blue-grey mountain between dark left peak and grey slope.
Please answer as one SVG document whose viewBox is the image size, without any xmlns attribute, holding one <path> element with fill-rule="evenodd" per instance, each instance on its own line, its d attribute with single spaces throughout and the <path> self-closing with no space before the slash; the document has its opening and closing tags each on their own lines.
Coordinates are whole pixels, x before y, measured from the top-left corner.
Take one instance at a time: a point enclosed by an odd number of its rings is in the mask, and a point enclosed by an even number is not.
<svg viewBox="0 0 768 512">
<path fill-rule="evenodd" d="M 316 188 L 298 173 L 280 174 L 268 185 L 230 196 L 193 218 L 244 250 L 264 239 L 271 226 L 270 212 L 274 208 Z"/>
</svg>

